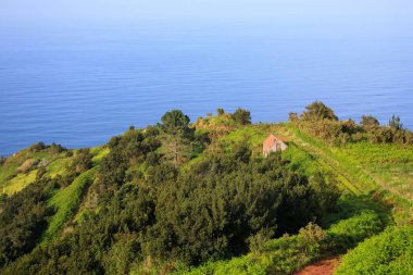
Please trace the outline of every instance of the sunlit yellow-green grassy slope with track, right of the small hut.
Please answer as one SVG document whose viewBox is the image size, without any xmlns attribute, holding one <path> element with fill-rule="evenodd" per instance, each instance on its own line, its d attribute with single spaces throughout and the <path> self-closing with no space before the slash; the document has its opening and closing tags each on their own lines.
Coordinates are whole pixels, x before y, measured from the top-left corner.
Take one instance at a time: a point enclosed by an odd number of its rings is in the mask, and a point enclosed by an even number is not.
<svg viewBox="0 0 413 275">
<path fill-rule="evenodd" d="M 291 126 L 287 130 L 300 148 L 316 157 L 318 163 L 330 166 L 347 189 L 355 195 L 378 196 L 393 208 L 398 224 L 413 221 L 411 149 L 368 142 L 331 147 Z"/>
</svg>

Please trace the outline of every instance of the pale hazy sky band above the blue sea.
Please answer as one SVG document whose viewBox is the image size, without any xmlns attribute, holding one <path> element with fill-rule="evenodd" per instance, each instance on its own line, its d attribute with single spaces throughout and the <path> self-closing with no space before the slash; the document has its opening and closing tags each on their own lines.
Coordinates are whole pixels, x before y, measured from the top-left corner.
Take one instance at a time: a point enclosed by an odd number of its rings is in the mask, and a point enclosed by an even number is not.
<svg viewBox="0 0 413 275">
<path fill-rule="evenodd" d="M 0 0 L 0 22 L 274 22 L 411 35 L 412 0 Z"/>
</svg>

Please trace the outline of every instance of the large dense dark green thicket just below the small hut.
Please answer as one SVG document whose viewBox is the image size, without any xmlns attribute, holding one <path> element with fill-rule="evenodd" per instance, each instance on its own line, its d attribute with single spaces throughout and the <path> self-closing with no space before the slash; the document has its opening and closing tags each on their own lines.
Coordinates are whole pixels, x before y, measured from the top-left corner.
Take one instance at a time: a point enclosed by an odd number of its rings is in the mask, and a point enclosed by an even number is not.
<svg viewBox="0 0 413 275">
<path fill-rule="evenodd" d="M 251 162 L 212 158 L 160 189 L 157 223 L 145 238 L 145 252 L 186 263 L 239 254 L 264 228 L 272 237 L 315 218 L 311 200 L 318 195 L 276 155 Z"/>
</svg>

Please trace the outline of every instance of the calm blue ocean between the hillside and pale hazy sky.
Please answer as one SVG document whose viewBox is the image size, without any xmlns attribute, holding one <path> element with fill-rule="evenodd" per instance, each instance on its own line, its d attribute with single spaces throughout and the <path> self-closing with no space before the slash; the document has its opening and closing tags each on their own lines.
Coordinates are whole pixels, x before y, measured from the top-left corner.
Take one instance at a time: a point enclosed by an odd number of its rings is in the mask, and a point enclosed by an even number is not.
<svg viewBox="0 0 413 275">
<path fill-rule="evenodd" d="M 34 142 L 105 143 L 129 125 L 217 108 L 288 120 L 313 100 L 340 118 L 413 129 L 413 34 L 309 34 L 274 25 L 0 25 L 0 155 Z"/>
</svg>

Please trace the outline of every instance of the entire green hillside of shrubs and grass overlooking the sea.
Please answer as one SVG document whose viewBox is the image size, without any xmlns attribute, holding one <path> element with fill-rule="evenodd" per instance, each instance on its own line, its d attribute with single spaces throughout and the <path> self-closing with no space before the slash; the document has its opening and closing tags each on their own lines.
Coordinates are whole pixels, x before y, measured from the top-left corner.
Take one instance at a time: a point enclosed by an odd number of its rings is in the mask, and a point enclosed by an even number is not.
<svg viewBox="0 0 413 275">
<path fill-rule="evenodd" d="M 343 255 L 337 274 L 409 274 L 413 134 L 398 122 L 316 101 L 279 124 L 173 110 L 97 148 L 36 143 L 1 161 L 0 273 L 291 274 Z M 270 134 L 288 149 L 266 159 Z"/>
</svg>

